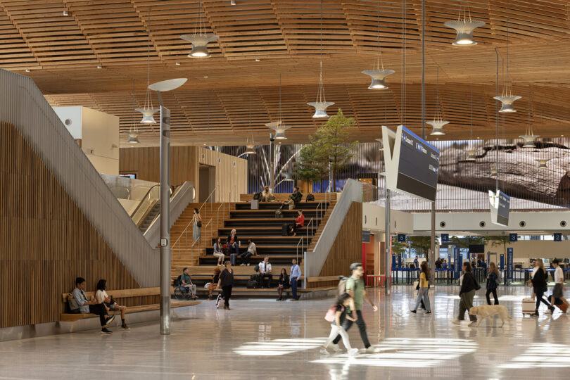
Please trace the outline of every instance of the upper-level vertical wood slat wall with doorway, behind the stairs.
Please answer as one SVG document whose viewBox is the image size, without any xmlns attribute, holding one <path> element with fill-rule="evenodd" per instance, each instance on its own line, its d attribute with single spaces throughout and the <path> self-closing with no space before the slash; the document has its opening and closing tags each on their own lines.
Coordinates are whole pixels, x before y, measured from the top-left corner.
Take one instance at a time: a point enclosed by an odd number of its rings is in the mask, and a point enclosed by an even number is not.
<svg viewBox="0 0 570 380">
<path fill-rule="evenodd" d="M 199 164 L 215 167 L 218 193 L 215 201 L 239 201 L 239 194 L 247 193 L 248 163 L 246 160 L 198 146 L 172 146 L 170 148 L 170 184 L 178 185 L 184 181 L 194 182 L 196 199 L 200 199 Z M 136 172 L 137 179 L 160 182 L 160 148 L 121 148 L 119 171 Z"/>
</svg>

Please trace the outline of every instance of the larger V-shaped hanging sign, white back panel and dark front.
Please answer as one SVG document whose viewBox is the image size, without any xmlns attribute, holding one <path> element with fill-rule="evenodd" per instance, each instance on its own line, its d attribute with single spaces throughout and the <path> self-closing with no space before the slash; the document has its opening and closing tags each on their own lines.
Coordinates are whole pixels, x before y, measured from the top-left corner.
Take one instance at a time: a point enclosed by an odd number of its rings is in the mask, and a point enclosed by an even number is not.
<svg viewBox="0 0 570 380">
<path fill-rule="evenodd" d="M 386 187 L 426 201 L 436 201 L 439 151 L 403 125 L 382 126 Z"/>
</svg>

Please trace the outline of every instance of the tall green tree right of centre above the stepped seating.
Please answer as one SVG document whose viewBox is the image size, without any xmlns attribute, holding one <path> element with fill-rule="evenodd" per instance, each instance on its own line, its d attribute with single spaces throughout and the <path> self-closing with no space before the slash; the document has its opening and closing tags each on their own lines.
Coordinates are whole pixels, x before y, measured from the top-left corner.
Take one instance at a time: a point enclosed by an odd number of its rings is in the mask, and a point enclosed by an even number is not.
<svg viewBox="0 0 570 380">
<path fill-rule="evenodd" d="M 302 179 L 321 180 L 332 173 L 333 187 L 338 172 L 343 170 L 354 157 L 352 153 L 357 142 L 348 143 L 350 129 L 356 126 L 354 118 L 346 118 L 338 108 L 338 113 L 317 129 L 309 137 L 310 144 L 300 151 L 296 171 Z"/>
</svg>

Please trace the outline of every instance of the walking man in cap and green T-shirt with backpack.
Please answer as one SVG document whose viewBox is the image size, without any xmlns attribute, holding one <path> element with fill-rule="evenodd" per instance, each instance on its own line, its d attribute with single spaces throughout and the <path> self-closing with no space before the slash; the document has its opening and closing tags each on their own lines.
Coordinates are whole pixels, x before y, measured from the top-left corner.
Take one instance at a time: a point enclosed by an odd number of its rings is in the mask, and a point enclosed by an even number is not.
<svg viewBox="0 0 570 380">
<path fill-rule="evenodd" d="M 370 306 L 372 306 L 372 309 L 374 311 L 378 310 L 378 308 L 376 308 L 376 305 L 372 303 L 372 300 L 370 300 L 370 298 L 366 293 L 365 284 L 364 281 L 362 281 L 362 274 L 364 274 L 364 269 L 362 268 L 362 264 L 360 262 L 353 262 L 352 264 L 350 264 L 350 271 L 352 272 L 352 276 L 346 279 L 344 291 L 342 291 L 341 288 L 342 288 L 342 281 L 345 280 L 341 280 L 341 284 L 339 284 L 339 293 L 346 292 L 353 297 L 356 309 L 356 317 L 357 317 L 356 324 L 358 325 L 358 331 L 360 331 L 360 338 L 362 338 L 362 343 L 365 344 L 367 353 L 376 353 L 378 352 L 378 350 L 370 345 L 370 342 L 368 341 L 368 335 L 366 334 L 366 324 L 364 322 L 364 318 L 362 317 L 362 300 L 363 299 L 366 300 L 367 303 L 369 303 Z M 351 321 L 350 319 L 345 319 L 342 324 L 342 327 L 345 331 L 348 331 L 348 329 L 350 329 L 352 325 L 353 321 Z M 337 352 L 341 350 L 337 344 L 339 341 L 341 341 L 340 335 L 334 338 L 332 344 L 333 350 Z"/>
</svg>

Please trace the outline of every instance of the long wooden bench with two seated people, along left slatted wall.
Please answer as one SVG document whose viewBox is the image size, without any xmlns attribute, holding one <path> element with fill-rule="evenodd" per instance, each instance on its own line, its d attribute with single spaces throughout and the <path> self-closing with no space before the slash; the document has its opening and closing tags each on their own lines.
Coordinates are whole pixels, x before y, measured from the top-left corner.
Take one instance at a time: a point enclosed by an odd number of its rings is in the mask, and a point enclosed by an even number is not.
<svg viewBox="0 0 570 380">
<path fill-rule="evenodd" d="M 172 293 L 172 286 L 170 287 L 170 292 Z M 156 288 L 140 288 L 140 289 L 118 289 L 118 290 L 109 290 L 106 291 L 108 296 L 113 296 L 113 298 L 131 298 L 131 297 L 141 297 L 141 296 L 160 296 L 160 287 Z M 63 293 L 61 298 L 63 303 L 68 302 L 68 294 Z M 91 296 L 95 296 L 94 291 L 86 291 L 85 295 L 87 298 L 91 298 Z M 184 300 L 184 301 L 170 301 L 170 308 L 182 308 L 183 306 L 194 306 L 199 305 L 201 302 L 196 300 Z M 159 310 L 160 304 L 154 303 L 151 305 L 140 305 L 140 306 L 129 306 L 127 307 L 127 314 L 132 312 L 144 312 L 149 310 Z M 109 310 L 109 315 L 113 314 L 120 314 L 118 310 Z M 59 321 L 60 322 L 76 322 L 80 319 L 85 318 L 94 318 L 98 317 L 97 315 L 87 313 L 87 314 L 72 314 L 68 312 L 64 312 L 60 315 Z"/>
</svg>

